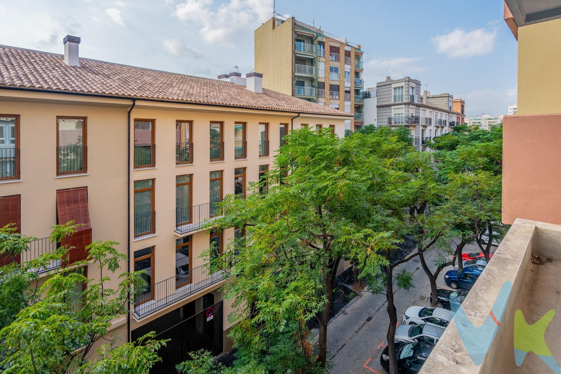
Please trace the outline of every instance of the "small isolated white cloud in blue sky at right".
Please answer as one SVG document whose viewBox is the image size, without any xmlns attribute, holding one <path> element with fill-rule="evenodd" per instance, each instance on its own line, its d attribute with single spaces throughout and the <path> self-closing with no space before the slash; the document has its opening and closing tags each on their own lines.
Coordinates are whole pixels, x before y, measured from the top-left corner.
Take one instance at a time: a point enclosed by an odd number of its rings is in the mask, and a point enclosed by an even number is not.
<svg viewBox="0 0 561 374">
<path fill-rule="evenodd" d="M 448 34 L 434 36 L 433 43 L 436 52 L 444 53 L 448 58 L 469 57 L 491 52 L 495 47 L 495 38 L 496 29 L 456 29 Z"/>
</svg>

